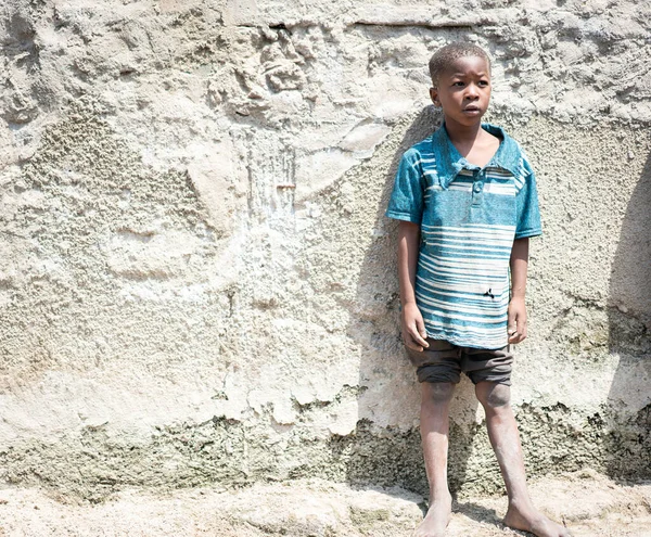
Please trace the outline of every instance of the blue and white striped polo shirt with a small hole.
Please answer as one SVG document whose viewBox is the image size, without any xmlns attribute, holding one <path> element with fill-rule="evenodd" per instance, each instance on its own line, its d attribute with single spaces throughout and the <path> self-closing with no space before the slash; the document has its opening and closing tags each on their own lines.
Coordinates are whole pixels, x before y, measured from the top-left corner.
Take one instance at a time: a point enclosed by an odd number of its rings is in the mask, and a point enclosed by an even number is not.
<svg viewBox="0 0 651 537">
<path fill-rule="evenodd" d="M 445 125 L 400 161 L 386 216 L 421 230 L 416 299 L 427 335 L 476 348 L 508 344 L 509 260 L 514 239 L 541 233 L 536 180 L 501 128 L 483 168 L 450 142 Z"/>
</svg>

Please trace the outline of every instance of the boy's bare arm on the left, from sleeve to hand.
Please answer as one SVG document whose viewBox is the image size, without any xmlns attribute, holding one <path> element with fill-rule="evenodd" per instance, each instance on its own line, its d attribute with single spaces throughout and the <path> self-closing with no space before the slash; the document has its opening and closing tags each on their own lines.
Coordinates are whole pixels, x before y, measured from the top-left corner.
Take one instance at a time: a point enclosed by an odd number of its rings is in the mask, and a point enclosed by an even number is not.
<svg viewBox="0 0 651 537">
<path fill-rule="evenodd" d="M 398 227 L 398 278 L 400 280 L 400 304 L 403 306 L 401 329 L 405 345 L 418 351 L 430 345 L 427 333 L 418 306 L 416 305 L 416 268 L 420 245 L 420 226 L 400 221 Z"/>
</svg>

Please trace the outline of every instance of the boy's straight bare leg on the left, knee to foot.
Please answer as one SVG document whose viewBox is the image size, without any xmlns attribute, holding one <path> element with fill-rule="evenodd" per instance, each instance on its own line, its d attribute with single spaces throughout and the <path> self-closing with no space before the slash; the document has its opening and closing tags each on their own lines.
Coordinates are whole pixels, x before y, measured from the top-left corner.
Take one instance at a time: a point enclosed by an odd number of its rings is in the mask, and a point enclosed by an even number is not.
<svg viewBox="0 0 651 537">
<path fill-rule="evenodd" d="M 443 537 L 450 522 L 452 497 L 447 482 L 449 407 L 455 385 L 422 383 L 421 438 L 430 484 L 430 509 L 414 537 Z"/>
</svg>

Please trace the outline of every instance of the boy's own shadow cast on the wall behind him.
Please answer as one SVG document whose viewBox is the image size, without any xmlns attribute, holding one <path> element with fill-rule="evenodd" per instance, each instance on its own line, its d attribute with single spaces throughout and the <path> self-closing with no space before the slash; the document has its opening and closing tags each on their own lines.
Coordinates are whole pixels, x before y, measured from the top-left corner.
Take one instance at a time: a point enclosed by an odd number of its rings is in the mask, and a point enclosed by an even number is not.
<svg viewBox="0 0 651 537">
<path fill-rule="evenodd" d="M 348 336 L 360 349 L 359 421 L 355 433 L 335 438 L 335 459 L 346 460 L 353 484 L 401 486 L 426 495 L 419 415 L 420 386 L 400 338 L 397 281 L 397 222 L 384 216 L 403 153 L 427 137 L 442 117 L 430 105 L 409 125 L 384 176 L 373 221 L 375 233 L 366 248 L 357 283 Z M 375 194 L 376 195 L 376 194 Z M 373 195 L 373 199 L 376 200 Z M 450 409 L 449 481 L 452 491 L 467 481 L 472 438 L 477 431 L 474 388 L 463 378 Z M 396 413 L 399 414 L 396 417 Z M 399 421 L 403 426 L 395 425 Z M 405 426 L 409 423 L 409 426 Z"/>
</svg>

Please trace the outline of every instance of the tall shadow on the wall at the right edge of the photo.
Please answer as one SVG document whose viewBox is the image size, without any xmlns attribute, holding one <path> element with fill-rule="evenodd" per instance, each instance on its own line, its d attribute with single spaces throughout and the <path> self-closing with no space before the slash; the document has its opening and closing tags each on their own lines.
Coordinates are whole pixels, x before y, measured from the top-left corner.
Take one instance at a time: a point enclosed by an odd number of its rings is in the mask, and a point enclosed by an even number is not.
<svg viewBox="0 0 651 537">
<path fill-rule="evenodd" d="M 651 155 L 630 196 L 613 260 L 609 348 L 620 362 L 605 442 L 613 476 L 651 477 Z"/>
</svg>

